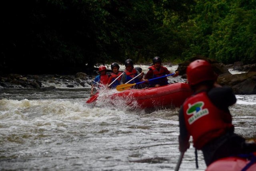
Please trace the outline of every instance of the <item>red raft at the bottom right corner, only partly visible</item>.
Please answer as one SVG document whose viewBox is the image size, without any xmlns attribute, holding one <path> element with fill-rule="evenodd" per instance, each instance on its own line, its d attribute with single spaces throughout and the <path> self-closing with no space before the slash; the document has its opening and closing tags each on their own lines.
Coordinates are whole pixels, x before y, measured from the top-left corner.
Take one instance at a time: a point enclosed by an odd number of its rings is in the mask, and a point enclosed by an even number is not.
<svg viewBox="0 0 256 171">
<path fill-rule="evenodd" d="M 206 171 L 256 171 L 256 155 L 250 158 L 226 157 L 219 159 L 210 164 Z"/>
</svg>

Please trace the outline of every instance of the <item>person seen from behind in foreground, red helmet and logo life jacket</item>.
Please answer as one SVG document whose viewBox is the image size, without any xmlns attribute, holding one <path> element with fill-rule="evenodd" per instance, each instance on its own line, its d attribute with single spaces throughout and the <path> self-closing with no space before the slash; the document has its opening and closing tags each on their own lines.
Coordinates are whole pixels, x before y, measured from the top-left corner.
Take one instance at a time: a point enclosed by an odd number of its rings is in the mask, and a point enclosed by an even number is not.
<svg viewBox="0 0 256 171">
<path fill-rule="evenodd" d="M 255 143 L 248 144 L 234 133 L 228 107 L 236 103 L 236 96 L 230 87 L 216 83 L 217 75 L 210 63 L 191 62 L 186 74 L 194 94 L 180 108 L 180 152 L 190 147 L 190 135 L 194 147 L 202 150 L 207 166 L 223 157 L 256 151 Z"/>
</svg>

